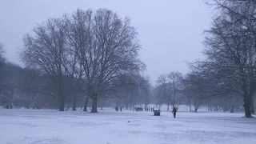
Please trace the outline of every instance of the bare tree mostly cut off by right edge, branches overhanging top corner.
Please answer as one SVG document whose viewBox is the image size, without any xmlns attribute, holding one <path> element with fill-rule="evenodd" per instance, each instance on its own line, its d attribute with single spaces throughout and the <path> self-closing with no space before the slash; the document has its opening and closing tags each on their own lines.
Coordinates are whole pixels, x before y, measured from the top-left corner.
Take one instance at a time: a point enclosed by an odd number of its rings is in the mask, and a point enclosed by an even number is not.
<svg viewBox="0 0 256 144">
<path fill-rule="evenodd" d="M 255 51 L 254 39 L 256 36 L 256 2 L 251 0 L 211 0 L 206 1 L 206 4 L 214 7 L 214 10 L 217 12 L 216 15 L 222 15 L 222 17 L 228 19 L 229 22 L 242 27 L 243 31 L 246 32 L 246 34 L 243 34 L 246 35 L 248 41 L 246 47 L 247 49 L 249 48 L 252 50 L 250 50 L 250 54 L 247 54 L 246 56 L 248 61 L 245 65 L 247 67 L 247 74 L 249 75 L 248 78 L 250 78 L 251 85 L 256 86 L 253 72 L 255 69 L 253 53 Z M 250 102 L 250 111 L 254 114 L 254 96 L 250 97 Z"/>
</svg>

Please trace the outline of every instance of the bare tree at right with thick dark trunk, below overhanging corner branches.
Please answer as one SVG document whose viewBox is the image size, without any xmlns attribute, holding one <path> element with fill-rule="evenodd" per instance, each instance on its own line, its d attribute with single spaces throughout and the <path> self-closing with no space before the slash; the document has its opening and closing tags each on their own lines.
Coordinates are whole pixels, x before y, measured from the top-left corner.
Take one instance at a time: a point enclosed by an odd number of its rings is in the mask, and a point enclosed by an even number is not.
<svg viewBox="0 0 256 144">
<path fill-rule="evenodd" d="M 212 28 L 205 33 L 206 61 L 201 62 L 199 67 L 204 74 L 212 75 L 214 81 L 224 85 L 226 90 L 241 95 L 246 118 L 250 118 L 251 98 L 254 95 L 255 42 L 254 34 L 244 26 L 245 22 L 250 21 L 241 20 L 231 13 L 214 18 Z"/>
</svg>

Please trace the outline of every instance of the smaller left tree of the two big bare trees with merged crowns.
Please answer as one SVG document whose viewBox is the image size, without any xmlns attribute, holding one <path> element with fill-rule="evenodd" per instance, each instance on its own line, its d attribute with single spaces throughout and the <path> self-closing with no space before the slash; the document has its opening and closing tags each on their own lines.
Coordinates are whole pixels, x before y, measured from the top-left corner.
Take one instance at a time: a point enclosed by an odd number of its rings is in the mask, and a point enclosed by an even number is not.
<svg viewBox="0 0 256 144">
<path fill-rule="evenodd" d="M 26 34 L 23 38 L 24 49 L 21 58 L 26 66 L 41 70 L 50 76 L 56 95 L 60 99 L 60 111 L 64 111 L 66 94 L 64 93 L 64 79 L 66 71 L 63 58 L 66 57 L 66 24 L 60 18 L 50 18 L 38 24 L 33 34 Z"/>
</svg>

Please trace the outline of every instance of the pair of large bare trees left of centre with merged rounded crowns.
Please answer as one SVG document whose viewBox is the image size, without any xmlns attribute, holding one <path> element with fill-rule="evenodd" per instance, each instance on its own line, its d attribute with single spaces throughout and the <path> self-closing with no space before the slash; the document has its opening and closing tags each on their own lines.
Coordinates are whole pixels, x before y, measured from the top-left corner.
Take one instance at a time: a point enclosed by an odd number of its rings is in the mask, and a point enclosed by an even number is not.
<svg viewBox="0 0 256 144">
<path fill-rule="evenodd" d="M 99 98 L 108 97 L 118 85 L 120 74 L 144 69 L 138 58 L 138 33 L 130 18 L 111 10 L 77 10 L 63 18 L 50 18 L 26 34 L 22 61 L 50 76 L 61 111 L 67 95 L 66 77 L 72 77 L 93 100 L 97 113 Z"/>
</svg>

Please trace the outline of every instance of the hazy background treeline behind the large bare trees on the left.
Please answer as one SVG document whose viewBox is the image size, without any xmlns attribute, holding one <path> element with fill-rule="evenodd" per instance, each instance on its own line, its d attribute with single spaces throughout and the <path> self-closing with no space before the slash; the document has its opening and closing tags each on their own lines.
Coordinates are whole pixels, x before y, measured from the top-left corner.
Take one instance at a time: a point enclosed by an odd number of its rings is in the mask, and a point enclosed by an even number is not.
<svg viewBox="0 0 256 144">
<path fill-rule="evenodd" d="M 22 68 L 10 62 L 2 64 L 0 73 L 0 105 L 9 108 L 12 108 L 12 106 L 33 107 L 34 109 L 59 108 L 60 97 L 56 94 L 49 75 Z M 76 110 L 77 107 L 84 106 L 84 110 L 87 111 L 87 107 L 91 108 L 93 104 L 91 98 L 88 98 L 78 85 L 75 85 L 77 88 L 74 89 L 74 86 L 71 86 L 72 82 L 75 84 L 72 78 L 66 78 L 63 82 L 65 86 L 63 93 L 67 96 L 66 108 L 72 106 L 72 110 Z M 122 86 L 117 87 L 118 91 L 115 91 L 113 97 L 98 99 L 98 107 L 115 105 L 126 106 L 126 109 L 129 107 L 131 110 L 136 105 L 149 103 L 149 78 L 136 73 L 126 74 L 122 75 L 122 82 Z M 137 91 L 131 93 L 132 90 Z"/>
</svg>

